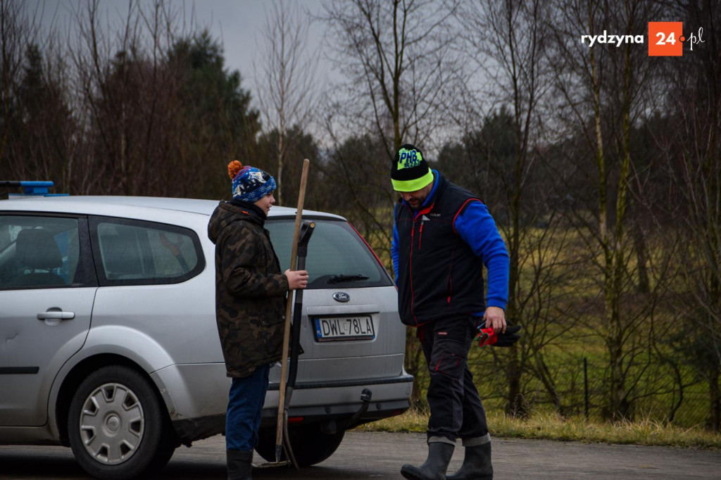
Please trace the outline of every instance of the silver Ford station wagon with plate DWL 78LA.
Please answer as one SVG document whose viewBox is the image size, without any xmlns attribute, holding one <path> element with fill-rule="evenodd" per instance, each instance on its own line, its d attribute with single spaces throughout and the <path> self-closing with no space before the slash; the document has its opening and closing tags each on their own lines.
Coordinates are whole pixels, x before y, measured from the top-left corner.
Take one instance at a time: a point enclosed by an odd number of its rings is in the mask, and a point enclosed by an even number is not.
<svg viewBox="0 0 721 480">
<path fill-rule="evenodd" d="M 215 319 L 212 200 L 0 200 L 0 444 L 70 446 L 100 479 L 162 468 L 175 448 L 225 429 L 230 380 Z M 270 230 L 290 265 L 296 210 Z M 288 409 L 301 466 L 345 430 L 401 414 L 412 376 L 388 272 L 344 218 L 306 210 L 298 373 Z M 280 366 L 257 452 L 275 458 Z"/>
</svg>

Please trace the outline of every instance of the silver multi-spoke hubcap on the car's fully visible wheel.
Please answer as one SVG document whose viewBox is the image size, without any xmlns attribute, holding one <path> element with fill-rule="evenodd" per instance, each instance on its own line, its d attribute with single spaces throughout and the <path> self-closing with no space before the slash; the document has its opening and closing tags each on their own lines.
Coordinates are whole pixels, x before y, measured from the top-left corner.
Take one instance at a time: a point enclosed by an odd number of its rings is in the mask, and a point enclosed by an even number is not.
<svg viewBox="0 0 721 480">
<path fill-rule="evenodd" d="M 105 383 L 85 400 L 79 427 L 85 450 L 92 458 L 106 465 L 123 463 L 143 440 L 143 406 L 130 388 Z"/>
</svg>

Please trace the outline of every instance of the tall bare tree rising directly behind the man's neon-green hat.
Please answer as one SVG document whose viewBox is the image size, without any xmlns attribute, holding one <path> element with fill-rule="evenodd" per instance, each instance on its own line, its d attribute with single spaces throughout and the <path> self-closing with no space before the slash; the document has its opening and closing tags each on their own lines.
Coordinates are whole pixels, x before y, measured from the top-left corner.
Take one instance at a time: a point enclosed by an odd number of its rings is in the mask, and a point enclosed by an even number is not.
<svg viewBox="0 0 721 480">
<path fill-rule="evenodd" d="M 458 27 L 456 0 L 346 0 L 324 3 L 324 22 L 333 60 L 345 82 L 326 117 L 329 136 L 340 147 L 366 138 L 374 154 L 362 168 L 332 157 L 327 174 L 347 185 L 361 213 L 366 232 L 382 232 L 373 248 L 389 251 L 392 215 L 387 207 L 397 196 L 389 180 L 394 151 L 414 143 L 427 151 L 433 137 L 447 134 L 451 109 L 461 75 L 461 53 L 454 48 Z M 339 126 L 333 129 L 334 126 Z M 340 130 L 341 133 L 337 133 Z M 342 137 L 350 135 L 350 143 Z M 375 154 L 376 142 L 384 154 Z M 386 177 L 387 178 L 387 177 Z M 379 180 L 380 179 L 380 180 Z M 368 203 L 368 192 L 371 203 Z M 384 207 L 384 208 L 382 208 Z"/>
</svg>

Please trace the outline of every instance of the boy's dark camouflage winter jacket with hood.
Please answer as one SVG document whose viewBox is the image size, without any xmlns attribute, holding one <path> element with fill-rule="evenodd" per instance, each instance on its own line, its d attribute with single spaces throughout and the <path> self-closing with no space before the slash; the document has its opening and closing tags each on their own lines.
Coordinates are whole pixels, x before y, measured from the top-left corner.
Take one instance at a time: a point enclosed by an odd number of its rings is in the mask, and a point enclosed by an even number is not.
<svg viewBox="0 0 721 480">
<path fill-rule="evenodd" d="M 221 201 L 208 223 L 216 244 L 216 321 L 229 377 L 280 360 L 288 279 L 252 204 Z"/>
</svg>

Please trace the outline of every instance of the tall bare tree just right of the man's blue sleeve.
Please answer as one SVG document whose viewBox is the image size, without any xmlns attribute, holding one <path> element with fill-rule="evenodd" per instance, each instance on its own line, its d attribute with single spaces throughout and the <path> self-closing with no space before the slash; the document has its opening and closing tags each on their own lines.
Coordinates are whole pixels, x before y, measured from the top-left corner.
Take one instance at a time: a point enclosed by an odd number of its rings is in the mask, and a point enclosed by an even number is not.
<svg viewBox="0 0 721 480">
<path fill-rule="evenodd" d="M 543 187 L 540 168 L 543 102 L 552 85 L 547 49 L 553 14 L 552 6 L 539 0 L 484 1 L 464 5 L 459 11 L 469 26 L 464 29 L 469 60 L 478 63 L 485 79 L 493 80 L 487 82 L 483 99 L 490 94 L 494 103 L 510 106 L 487 117 L 480 135 L 466 135 L 470 164 L 464 171 L 466 185 L 486 192 L 485 201 L 503 218 L 498 226 L 510 254 L 506 315 L 522 324 L 526 333 L 500 362 L 508 378 L 506 409 L 514 414 L 526 412 L 521 389 L 526 372 L 541 381 L 552 402 L 562 409 L 554 375 L 541 350 L 572 326 L 572 322 L 559 322 L 562 309 L 557 305 L 564 276 L 557 268 L 562 258 L 559 252 L 567 243 L 556 215 L 562 205 L 549 201 L 553 192 Z M 506 145 L 503 138 L 508 139 Z M 539 231 L 539 223 L 546 228 Z M 553 333 L 549 325 L 554 326 Z"/>
</svg>

